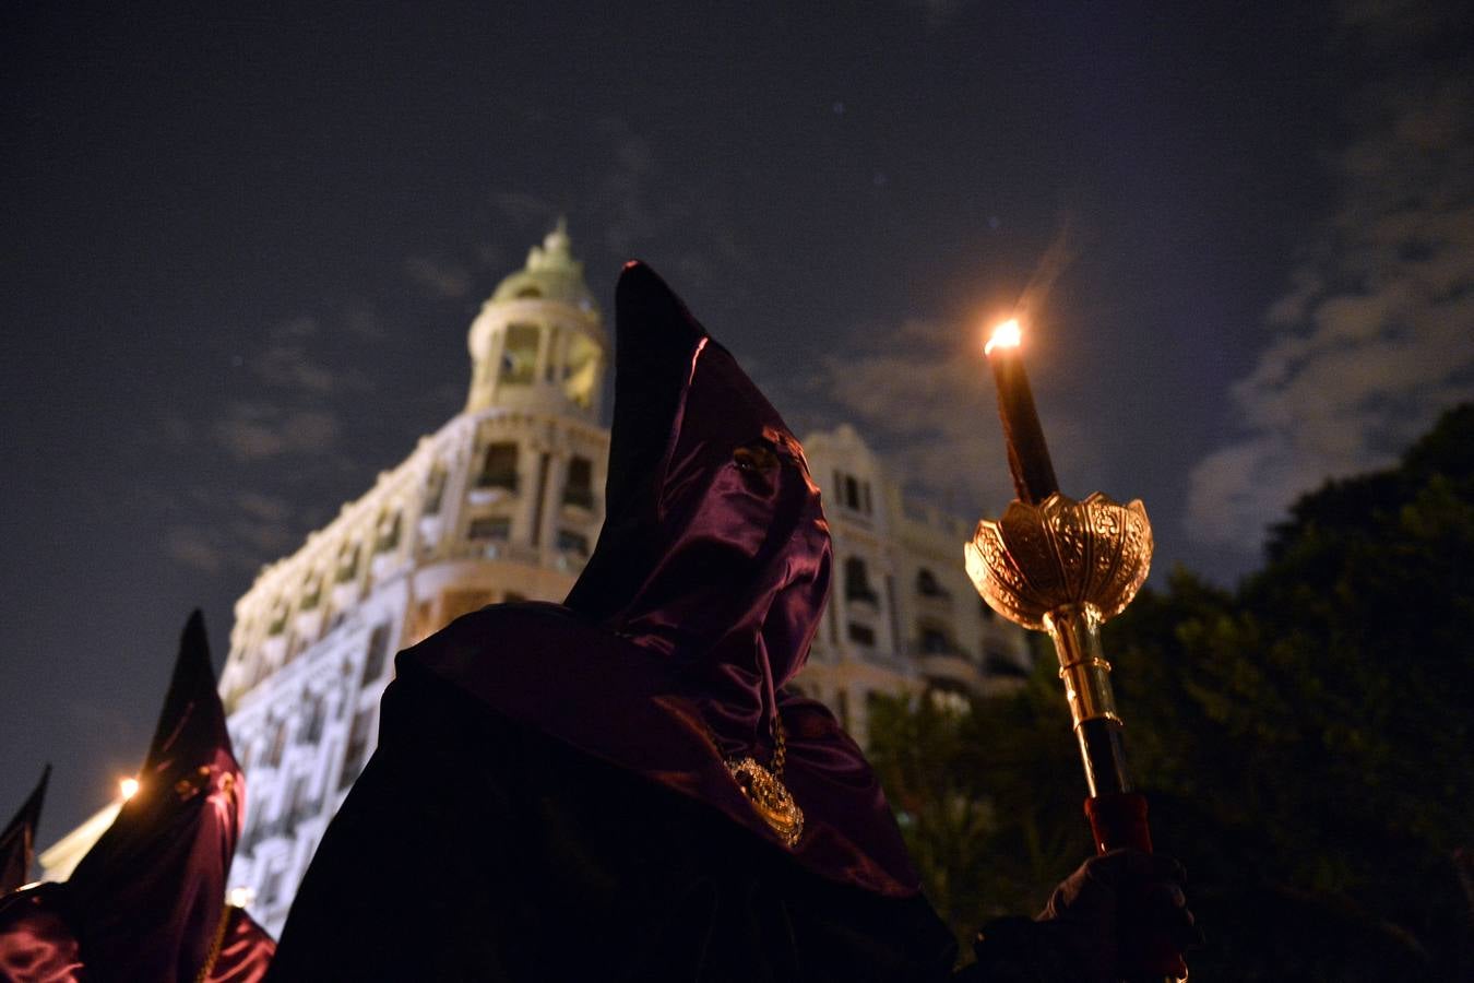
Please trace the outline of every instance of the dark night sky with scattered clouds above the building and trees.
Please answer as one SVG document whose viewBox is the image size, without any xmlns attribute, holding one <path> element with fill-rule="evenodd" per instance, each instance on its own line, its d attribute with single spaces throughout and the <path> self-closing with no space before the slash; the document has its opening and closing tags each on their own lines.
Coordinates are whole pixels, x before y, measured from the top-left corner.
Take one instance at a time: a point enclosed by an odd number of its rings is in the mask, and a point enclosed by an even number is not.
<svg viewBox="0 0 1474 983">
<path fill-rule="evenodd" d="M 142 6 L 0 13 L 0 816 L 53 762 L 43 844 L 189 610 L 218 666 L 460 408 L 560 214 L 606 309 L 650 261 L 799 433 L 968 517 L 1026 298 L 1064 489 L 1145 500 L 1157 578 L 1231 584 L 1474 393 L 1468 4 Z"/>
</svg>

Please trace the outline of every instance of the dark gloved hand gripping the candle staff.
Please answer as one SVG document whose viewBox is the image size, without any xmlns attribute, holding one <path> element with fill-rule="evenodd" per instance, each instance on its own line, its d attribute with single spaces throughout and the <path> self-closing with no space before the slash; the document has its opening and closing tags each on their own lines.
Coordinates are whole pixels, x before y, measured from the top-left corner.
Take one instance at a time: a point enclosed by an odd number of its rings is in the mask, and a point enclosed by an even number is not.
<svg viewBox="0 0 1474 983">
<path fill-rule="evenodd" d="M 1001 918 L 974 945 L 983 980 L 1128 979 L 1153 939 L 1178 952 L 1203 943 L 1182 865 L 1141 850 L 1094 856 L 1066 877 L 1035 921 Z"/>
</svg>

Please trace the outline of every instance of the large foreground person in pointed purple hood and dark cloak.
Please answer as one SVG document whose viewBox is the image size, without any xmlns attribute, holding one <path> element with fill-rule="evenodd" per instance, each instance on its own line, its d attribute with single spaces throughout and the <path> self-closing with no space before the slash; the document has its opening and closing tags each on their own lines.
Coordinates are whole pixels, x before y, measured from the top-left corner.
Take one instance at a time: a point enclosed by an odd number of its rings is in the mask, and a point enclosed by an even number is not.
<svg viewBox="0 0 1474 983">
<path fill-rule="evenodd" d="M 786 688 L 830 570 L 803 452 L 647 267 L 616 315 L 588 566 L 566 604 L 485 607 L 399 654 L 271 983 L 951 968 L 859 749 Z"/>
</svg>

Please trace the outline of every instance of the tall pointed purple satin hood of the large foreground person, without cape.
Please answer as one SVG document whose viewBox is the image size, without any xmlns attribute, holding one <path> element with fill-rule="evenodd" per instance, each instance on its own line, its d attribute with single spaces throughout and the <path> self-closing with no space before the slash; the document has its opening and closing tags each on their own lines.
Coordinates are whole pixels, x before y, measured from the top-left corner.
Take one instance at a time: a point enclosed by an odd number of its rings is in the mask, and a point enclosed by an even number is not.
<svg viewBox="0 0 1474 983">
<path fill-rule="evenodd" d="M 828 588 L 820 491 L 778 411 L 647 265 L 616 292 L 607 519 L 566 604 L 705 691 L 727 753 L 768 740 Z"/>
</svg>

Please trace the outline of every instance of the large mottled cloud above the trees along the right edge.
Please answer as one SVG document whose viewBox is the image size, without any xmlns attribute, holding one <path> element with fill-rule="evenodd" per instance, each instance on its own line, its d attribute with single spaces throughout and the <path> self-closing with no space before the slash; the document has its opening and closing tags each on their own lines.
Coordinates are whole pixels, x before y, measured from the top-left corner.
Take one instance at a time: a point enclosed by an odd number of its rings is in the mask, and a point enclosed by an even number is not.
<svg viewBox="0 0 1474 983">
<path fill-rule="evenodd" d="M 1344 19 L 1374 62 L 1387 38 L 1427 50 L 1443 29 L 1375 4 Z M 1359 136 L 1334 158 L 1337 206 L 1231 389 L 1241 435 L 1191 473 L 1200 542 L 1257 551 L 1297 495 L 1391 463 L 1474 398 L 1474 80 L 1400 52 L 1349 106 Z"/>
</svg>

